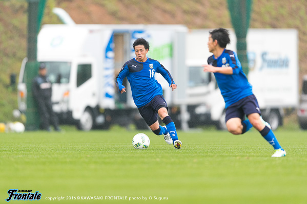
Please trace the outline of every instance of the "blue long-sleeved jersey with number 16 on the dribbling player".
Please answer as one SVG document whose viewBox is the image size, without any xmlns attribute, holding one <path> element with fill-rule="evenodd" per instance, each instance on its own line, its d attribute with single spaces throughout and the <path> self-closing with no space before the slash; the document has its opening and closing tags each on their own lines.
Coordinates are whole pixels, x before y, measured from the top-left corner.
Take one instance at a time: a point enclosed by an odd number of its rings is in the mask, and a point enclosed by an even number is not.
<svg viewBox="0 0 307 204">
<path fill-rule="evenodd" d="M 146 62 L 138 62 L 133 58 L 121 68 L 116 77 L 116 86 L 119 92 L 125 88 L 122 80 L 127 77 L 134 103 L 139 108 L 149 103 L 155 96 L 162 95 L 162 87 L 155 80 L 155 73 L 160 73 L 169 85 L 174 83 L 169 71 L 157 60 L 147 58 Z"/>
</svg>

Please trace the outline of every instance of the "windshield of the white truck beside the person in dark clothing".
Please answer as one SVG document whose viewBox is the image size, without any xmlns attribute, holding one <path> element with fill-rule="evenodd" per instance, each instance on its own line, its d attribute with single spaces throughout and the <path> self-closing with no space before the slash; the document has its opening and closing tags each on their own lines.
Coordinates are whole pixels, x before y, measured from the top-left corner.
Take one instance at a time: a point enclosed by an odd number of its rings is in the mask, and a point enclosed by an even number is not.
<svg viewBox="0 0 307 204">
<path fill-rule="evenodd" d="M 44 62 L 51 83 L 69 83 L 70 62 Z"/>
</svg>

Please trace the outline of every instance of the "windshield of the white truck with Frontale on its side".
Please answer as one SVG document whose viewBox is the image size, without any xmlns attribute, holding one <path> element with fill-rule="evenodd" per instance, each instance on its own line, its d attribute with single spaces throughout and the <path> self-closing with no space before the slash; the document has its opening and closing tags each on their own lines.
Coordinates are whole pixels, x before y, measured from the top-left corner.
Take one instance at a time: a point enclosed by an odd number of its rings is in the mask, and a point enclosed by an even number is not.
<svg viewBox="0 0 307 204">
<path fill-rule="evenodd" d="M 202 70 L 201 66 L 189 67 L 189 87 L 204 86 L 210 83 L 210 73 Z"/>
</svg>

